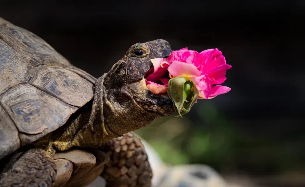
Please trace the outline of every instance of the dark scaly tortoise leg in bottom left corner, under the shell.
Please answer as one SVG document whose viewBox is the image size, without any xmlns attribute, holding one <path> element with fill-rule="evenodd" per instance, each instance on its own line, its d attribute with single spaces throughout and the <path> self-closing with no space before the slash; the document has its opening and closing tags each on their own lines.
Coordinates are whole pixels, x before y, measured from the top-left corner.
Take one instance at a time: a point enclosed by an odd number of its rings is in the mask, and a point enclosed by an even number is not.
<svg viewBox="0 0 305 187">
<path fill-rule="evenodd" d="M 17 152 L 0 176 L 1 187 L 50 187 L 56 178 L 54 160 L 42 149 Z"/>
</svg>

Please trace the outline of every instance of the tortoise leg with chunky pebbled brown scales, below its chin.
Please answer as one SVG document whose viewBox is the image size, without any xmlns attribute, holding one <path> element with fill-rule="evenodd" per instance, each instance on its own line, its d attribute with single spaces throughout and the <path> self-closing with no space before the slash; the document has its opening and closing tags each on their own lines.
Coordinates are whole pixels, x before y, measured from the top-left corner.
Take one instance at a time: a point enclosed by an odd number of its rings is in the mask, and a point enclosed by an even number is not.
<svg viewBox="0 0 305 187">
<path fill-rule="evenodd" d="M 107 187 L 150 187 L 153 173 L 141 140 L 132 133 L 109 140 L 101 150 L 110 156 L 101 176 Z"/>
</svg>

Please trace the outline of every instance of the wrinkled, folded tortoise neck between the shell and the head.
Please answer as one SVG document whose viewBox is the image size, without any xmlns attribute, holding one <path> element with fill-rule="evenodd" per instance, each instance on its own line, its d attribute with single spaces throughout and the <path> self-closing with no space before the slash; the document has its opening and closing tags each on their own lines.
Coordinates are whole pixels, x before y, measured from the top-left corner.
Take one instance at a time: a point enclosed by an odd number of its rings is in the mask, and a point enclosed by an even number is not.
<svg viewBox="0 0 305 187">
<path fill-rule="evenodd" d="M 104 75 L 95 83 L 93 99 L 78 109 L 63 127 L 53 133 L 53 146 L 57 150 L 64 151 L 72 146 L 94 148 L 113 137 L 109 136 L 104 126 L 103 82 Z"/>
</svg>

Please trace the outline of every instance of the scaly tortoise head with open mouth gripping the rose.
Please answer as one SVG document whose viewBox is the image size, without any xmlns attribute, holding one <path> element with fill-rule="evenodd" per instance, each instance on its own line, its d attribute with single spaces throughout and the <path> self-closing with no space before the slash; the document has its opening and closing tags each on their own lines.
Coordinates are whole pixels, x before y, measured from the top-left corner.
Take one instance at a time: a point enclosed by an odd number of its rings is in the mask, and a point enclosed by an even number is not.
<svg viewBox="0 0 305 187">
<path fill-rule="evenodd" d="M 104 86 L 109 103 L 104 101 L 104 121 L 106 125 L 111 123 L 107 126 L 112 132 L 122 135 L 174 113 L 172 101 L 151 93 L 144 78 L 153 67 L 151 59 L 166 58 L 171 52 L 165 40 L 136 43 L 106 74 Z"/>
</svg>

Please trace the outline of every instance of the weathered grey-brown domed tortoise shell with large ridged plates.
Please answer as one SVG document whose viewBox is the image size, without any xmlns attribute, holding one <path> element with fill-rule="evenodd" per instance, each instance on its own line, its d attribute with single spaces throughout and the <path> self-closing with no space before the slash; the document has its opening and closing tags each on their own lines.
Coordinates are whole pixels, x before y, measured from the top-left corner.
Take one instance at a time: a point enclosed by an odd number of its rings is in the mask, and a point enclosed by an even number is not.
<svg viewBox="0 0 305 187">
<path fill-rule="evenodd" d="M 0 159 L 67 122 L 97 79 L 0 17 Z"/>
</svg>

